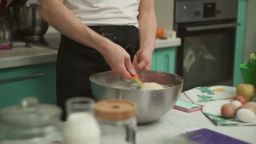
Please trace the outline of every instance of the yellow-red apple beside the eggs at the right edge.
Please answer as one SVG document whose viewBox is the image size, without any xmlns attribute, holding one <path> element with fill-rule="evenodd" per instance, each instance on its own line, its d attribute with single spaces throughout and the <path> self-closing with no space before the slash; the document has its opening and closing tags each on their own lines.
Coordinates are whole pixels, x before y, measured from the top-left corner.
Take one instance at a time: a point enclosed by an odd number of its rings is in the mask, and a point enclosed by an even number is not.
<svg viewBox="0 0 256 144">
<path fill-rule="evenodd" d="M 252 101 L 255 96 L 255 87 L 251 84 L 239 84 L 236 87 L 236 95 L 242 95 L 246 102 Z"/>
</svg>

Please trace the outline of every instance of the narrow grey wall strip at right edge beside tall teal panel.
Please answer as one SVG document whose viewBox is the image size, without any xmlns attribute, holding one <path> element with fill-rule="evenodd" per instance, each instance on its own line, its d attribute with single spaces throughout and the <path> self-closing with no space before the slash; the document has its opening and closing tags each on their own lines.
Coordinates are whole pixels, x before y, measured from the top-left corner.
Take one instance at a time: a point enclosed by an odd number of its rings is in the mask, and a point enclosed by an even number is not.
<svg viewBox="0 0 256 144">
<path fill-rule="evenodd" d="M 246 63 L 249 55 L 256 52 L 256 0 L 247 0 L 246 24 L 243 48 L 243 63 Z"/>
</svg>

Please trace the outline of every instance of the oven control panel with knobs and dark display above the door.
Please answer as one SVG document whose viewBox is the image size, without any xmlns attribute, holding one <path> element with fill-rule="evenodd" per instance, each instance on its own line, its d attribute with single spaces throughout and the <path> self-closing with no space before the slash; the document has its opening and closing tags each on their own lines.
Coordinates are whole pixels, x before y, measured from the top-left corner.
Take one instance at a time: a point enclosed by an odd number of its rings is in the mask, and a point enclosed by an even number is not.
<svg viewBox="0 0 256 144">
<path fill-rule="evenodd" d="M 175 23 L 237 18 L 238 0 L 176 0 Z"/>
</svg>

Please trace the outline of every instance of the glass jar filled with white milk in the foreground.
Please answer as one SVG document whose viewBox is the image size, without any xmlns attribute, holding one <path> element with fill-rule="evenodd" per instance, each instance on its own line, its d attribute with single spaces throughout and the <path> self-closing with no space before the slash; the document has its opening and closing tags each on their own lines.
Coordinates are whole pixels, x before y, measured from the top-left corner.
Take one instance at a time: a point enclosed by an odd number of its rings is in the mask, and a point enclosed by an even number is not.
<svg viewBox="0 0 256 144">
<path fill-rule="evenodd" d="M 63 144 L 100 144 L 100 129 L 93 115 L 93 104 L 92 98 L 67 100 L 68 118 L 63 124 Z"/>
</svg>

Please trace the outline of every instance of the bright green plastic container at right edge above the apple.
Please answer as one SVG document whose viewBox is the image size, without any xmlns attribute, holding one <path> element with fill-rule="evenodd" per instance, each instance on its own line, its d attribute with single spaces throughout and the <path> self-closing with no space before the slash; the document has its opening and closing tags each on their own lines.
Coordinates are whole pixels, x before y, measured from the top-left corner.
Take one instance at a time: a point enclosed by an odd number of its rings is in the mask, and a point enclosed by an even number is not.
<svg viewBox="0 0 256 144">
<path fill-rule="evenodd" d="M 256 88 L 256 69 L 246 68 L 246 63 L 240 65 L 243 83 L 252 84 Z"/>
</svg>

